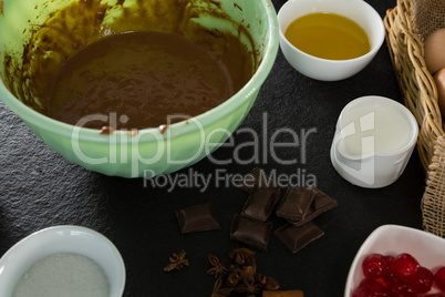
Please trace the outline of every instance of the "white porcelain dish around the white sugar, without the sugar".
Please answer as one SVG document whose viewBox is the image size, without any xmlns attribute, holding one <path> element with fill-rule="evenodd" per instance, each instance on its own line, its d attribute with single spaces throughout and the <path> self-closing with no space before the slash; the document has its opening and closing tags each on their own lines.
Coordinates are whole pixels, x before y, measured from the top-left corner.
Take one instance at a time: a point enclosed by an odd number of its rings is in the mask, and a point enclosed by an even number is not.
<svg viewBox="0 0 445 297">
<path fill-rule="evenodd" d="M 110 297 L 121 297 L 125 266 L 117 248 L 102 234 L 80 226 L 54 226 L 31 234 L 0 258 L 0 296 L 12 296 L 22 275 L 39 259 L 58 253 L 89 257 L 104 270 Z"/>
</svg>

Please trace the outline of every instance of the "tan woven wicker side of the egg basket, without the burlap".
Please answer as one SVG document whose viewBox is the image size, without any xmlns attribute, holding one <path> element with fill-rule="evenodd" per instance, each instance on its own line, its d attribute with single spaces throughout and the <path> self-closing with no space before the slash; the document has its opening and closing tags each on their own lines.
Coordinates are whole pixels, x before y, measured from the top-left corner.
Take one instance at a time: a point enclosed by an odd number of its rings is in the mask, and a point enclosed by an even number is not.
<svg viewBox="0 0 445 297">
<path fill-rule="evenodd" d="M 399 0 L 397 6 L 386 12 L 384 24 L 405 104 L 418 123 L 417 150 L 427 171 L 434 155 L 434 143 L 444 130 L 437 89 L 425 65 L 422 37 L 413 31 L 412 13 L 412 2 Z"/>
</svg>

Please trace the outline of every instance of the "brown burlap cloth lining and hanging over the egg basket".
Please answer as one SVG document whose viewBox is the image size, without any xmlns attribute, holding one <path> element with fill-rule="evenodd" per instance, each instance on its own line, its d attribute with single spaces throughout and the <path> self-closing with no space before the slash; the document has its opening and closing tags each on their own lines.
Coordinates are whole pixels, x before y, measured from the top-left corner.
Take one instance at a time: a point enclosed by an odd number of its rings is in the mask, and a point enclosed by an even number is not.
<svg viewBox="0 0 445 297">
<path fill-rule="evenodd" d="M 445 28 L 445 0 L 410 1 L 413 31 L 422 41 L 435 30 Z M 445 135 L 437 137 L 434 144 L 421 208 L 424 229 L 445 237 Z"/>
</svg>

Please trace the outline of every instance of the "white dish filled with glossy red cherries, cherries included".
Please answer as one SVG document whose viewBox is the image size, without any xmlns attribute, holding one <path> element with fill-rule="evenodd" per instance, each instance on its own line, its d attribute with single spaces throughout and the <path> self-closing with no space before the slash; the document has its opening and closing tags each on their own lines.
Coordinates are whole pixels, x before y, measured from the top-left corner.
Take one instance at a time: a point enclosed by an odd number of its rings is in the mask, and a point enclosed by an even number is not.
<svg viewBox="0 0 445 297">
<path fill-rule="evenodd" d="M 397 225 L 376 228 L 351 265 L 344 297 L 445 297 L 445 239 Z"/>
</svg>

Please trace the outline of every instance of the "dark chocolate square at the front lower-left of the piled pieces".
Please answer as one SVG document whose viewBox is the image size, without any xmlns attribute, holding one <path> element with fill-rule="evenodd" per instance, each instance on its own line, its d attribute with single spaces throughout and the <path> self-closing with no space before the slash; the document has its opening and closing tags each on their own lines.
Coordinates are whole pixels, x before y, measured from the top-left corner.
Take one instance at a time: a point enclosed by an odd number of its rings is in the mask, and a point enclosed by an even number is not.
<svg viewBox="0 0 445 297">
<path fill-rule="evenodd" d="M 271 222 L 259 222 L 235 215 L 231 224 L 230 238 L 261 252 L 267 252 L 271 231 Z"/>
</svg>

